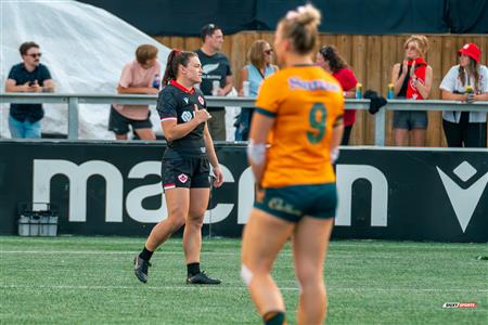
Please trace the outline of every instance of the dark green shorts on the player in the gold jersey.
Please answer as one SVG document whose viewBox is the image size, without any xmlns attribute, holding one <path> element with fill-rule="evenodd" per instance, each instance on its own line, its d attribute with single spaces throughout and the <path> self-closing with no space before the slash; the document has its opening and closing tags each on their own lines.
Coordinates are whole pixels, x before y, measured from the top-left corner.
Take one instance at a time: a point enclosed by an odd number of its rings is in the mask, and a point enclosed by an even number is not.
<svg viewBox="0 0 488 325">
<path fill-rule="evenodd" d="M 318 219 L 335 217 L 335 183 L 260 188 L 254 207 L 278 218 L 298 222 L 304 216 Z"/>
</svg>

